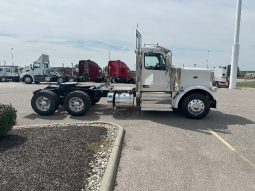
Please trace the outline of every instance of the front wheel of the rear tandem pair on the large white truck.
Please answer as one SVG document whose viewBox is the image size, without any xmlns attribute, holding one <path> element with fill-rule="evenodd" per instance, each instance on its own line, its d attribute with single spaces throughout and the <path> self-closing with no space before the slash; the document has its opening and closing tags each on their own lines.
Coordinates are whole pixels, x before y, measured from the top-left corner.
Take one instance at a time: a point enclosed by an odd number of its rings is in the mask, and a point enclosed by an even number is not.
<svg viewBox="0 0 255 191">
<path fill-rule="evenodd" d="M 65 110 L 75 116 L 85 114 L 91 106 L 91 99 L 87 93 L 74 91 L 69 93 L 64 100 Z"/>
</svg>

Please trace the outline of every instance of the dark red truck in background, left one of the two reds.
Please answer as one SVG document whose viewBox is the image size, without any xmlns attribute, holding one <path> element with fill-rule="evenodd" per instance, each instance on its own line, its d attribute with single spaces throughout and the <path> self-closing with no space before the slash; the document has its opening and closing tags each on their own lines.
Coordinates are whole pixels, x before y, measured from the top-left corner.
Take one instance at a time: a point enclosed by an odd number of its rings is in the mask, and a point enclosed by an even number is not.
<svg viewBox="0 0 255 191">
<path fill-rule="evenodd" d="M 79 61 L 79 78 L 78 81 L 102 82 L 102 69 L 91 60 Z"/>
</svg>

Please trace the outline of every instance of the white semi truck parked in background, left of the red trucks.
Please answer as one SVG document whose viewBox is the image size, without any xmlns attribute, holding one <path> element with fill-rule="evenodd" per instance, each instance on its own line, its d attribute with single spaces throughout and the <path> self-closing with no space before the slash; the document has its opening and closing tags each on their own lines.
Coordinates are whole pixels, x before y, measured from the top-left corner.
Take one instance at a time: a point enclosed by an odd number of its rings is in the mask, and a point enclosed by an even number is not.
<svg viewBox="0 0 255 191">
<path fill-rule="evenodd" d="M 40 82 L 63 82 L 63 78 L 56 72 L 50 71 L 49 56 L 42 54 L 37 61 L 30 66 L 22 68 L 20 71 L 20 80 L 26 84 Z"/>
</svg>

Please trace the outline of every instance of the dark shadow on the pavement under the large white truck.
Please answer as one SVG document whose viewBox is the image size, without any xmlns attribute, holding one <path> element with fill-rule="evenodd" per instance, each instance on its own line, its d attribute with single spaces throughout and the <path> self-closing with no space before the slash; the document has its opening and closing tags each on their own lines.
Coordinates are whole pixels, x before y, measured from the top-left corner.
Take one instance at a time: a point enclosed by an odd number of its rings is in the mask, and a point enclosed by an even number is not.
<svg viewBox="0 0 255 191">
<path fill-rule="evenodd" d="M 146 111 L 141 112 L 136 109 L 117 109 L 107 108 L 105 105 L 98 104 L 92 107 L 88 113 L 84 116 L 71 116 L 63 110 L 58 110 L 54 115 L 51 116 L 40 116 L 36 113 L 32 113 L 25 118 L 35 120 L 35 119 L 45 119 L 45 120 L 64 120 L 72 119 L 78 121 L 98 121 L 106 120 L 105 117 L 110 117 L 113 120 L 144 120 L 151 121 L 158 124 L 163 124 L 169 126 L 169 128 L 180 128 L 190 131 L 196 131 L 204 134 L 211 135 L 208 129 L 212 129 L 215 132 L 231 134 L 231 125 L 248 125 L 255 124 L 245 117 L 222 113 L 218 110 L 211 110 L 208 116 L 201 120 L 187 119 L 180 113 L 175 112 L 160 112 L 160 111 Z M 121 125 L 122 122 L 117 121 Z M 139 127 L 138 127 L 139 128 Z"/>
</svg>

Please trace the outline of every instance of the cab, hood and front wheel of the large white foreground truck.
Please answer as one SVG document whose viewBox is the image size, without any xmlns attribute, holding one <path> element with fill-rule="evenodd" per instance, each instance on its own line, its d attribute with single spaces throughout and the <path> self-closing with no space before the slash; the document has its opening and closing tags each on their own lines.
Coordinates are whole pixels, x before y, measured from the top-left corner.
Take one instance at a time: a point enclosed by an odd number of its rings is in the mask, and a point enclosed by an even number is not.
<svg viewBox="0 0 255 191">
<path fill-rule="evenodd" d="M 199 119 L 216 108 L 211 70 L 175 67 L 169 49 L 142 47 L 139 31 L 136 37 L 136 102 L 141 110 L 181 110 Z"/>
</svg>

